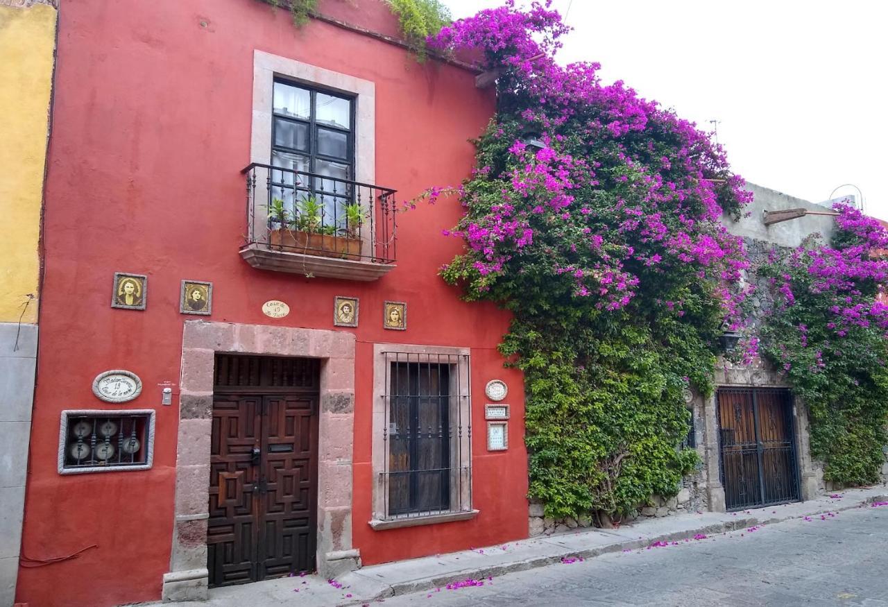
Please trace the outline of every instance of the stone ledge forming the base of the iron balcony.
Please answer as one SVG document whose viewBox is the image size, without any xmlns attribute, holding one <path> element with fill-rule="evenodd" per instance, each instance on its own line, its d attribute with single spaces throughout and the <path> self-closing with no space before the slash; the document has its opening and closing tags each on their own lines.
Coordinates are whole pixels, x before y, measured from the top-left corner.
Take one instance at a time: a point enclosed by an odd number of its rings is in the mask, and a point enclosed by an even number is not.
<svg viewBox="0 0 888 607">
<path fill-rule="evenodd" d="M 241 248 L 244 261 L 258 270 L 289 272 L 314 278 L 339 280 L 379 280 L 395 269 L 394 264 L 375 264 L 336 257 L 321 257 L 276 251 L 261 244 L 253 243 Z"/>
</svg>

